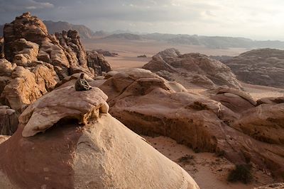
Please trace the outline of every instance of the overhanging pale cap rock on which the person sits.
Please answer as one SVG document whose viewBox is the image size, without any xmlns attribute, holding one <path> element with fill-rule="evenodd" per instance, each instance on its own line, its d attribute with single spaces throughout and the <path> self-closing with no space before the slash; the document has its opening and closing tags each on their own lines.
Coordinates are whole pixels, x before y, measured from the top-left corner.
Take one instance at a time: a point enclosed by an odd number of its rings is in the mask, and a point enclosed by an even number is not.
<svg viewBox="0 0 284 189">
<path fill-rule="evenodd" d="M 99 88 L 75 91 L 74 86 L 68 86 L 54 90 L 29 105 L 18 118 L 22 125 L 26 125 L 23 137 L 45 132 L 59 120 L 70 116 L 86 125 L 89 119 L 98 118 L 99 112 L 108 112 L 106 100 L 107 96 Z"/>
</svg>

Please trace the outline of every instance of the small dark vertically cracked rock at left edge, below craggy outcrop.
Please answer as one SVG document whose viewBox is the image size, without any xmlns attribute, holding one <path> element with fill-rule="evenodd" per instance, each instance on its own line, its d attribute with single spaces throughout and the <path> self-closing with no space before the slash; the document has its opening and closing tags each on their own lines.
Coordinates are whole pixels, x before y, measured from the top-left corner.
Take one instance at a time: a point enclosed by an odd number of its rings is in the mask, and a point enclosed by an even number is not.
<svg viewBox="0 0 284 189">
<path fill-rule="evenodd" d="M 0 134 L 12 135 L 18 128 L 18 113 L 9 106 L 0 106 Z M 1 140 L 1 139 L 0 139 Z"/>
</svg>

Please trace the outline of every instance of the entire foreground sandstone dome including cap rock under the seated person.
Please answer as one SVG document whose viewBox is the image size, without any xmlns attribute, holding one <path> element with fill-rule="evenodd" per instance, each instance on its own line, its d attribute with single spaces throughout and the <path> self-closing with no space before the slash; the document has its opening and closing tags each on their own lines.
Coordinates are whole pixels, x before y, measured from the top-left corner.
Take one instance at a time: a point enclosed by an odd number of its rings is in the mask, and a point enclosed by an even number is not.
<svg viewBox="0 0 284 189">
<path fill-rule="evenodd" d="M 0 188 L 199 188 L 180 166 L 111 117 L 105 99 L 99 88 L 66 87 L 30 105 L 16 133 L 0 144 L 6 151 Z M 86 125 L 76 121 L 80 116 L 89 118 Z M 35 134 L 46 129 L 42 119 L 51 128 Z"/>
</svg>

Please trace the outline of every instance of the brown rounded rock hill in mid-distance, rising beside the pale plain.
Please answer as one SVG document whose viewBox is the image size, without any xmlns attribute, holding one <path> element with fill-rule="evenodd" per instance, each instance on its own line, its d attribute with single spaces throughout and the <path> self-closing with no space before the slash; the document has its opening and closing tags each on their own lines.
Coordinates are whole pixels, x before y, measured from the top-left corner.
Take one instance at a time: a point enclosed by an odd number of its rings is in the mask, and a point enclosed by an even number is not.
<svg viewBox="0 0 284 189">
<path fill-rule="evenodd" d="M 214 88 L 223 85 L 241 88 L 241 84 L 229 67 L 199 53 L 181 55 L 175 49 L 164 50 L 154 55 L 143 69 L 149 69 L 170 81 L 178 81 L 186 88 L 190 86 Z"/>
</svg>

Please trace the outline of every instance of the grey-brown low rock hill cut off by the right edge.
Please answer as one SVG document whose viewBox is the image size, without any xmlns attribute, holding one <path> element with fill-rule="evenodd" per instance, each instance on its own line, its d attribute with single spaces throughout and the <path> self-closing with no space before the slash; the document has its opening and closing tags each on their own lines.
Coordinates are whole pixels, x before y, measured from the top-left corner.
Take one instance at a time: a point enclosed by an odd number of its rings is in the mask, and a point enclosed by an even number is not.
<svg viewBox="0 0 284 189">
<path fill-rule="evenodd" d="M 284 88 L 284 50 L 251 50 L 225 60 L 224 64 L 231 68 L 240 81 Z"/>
</svg>

